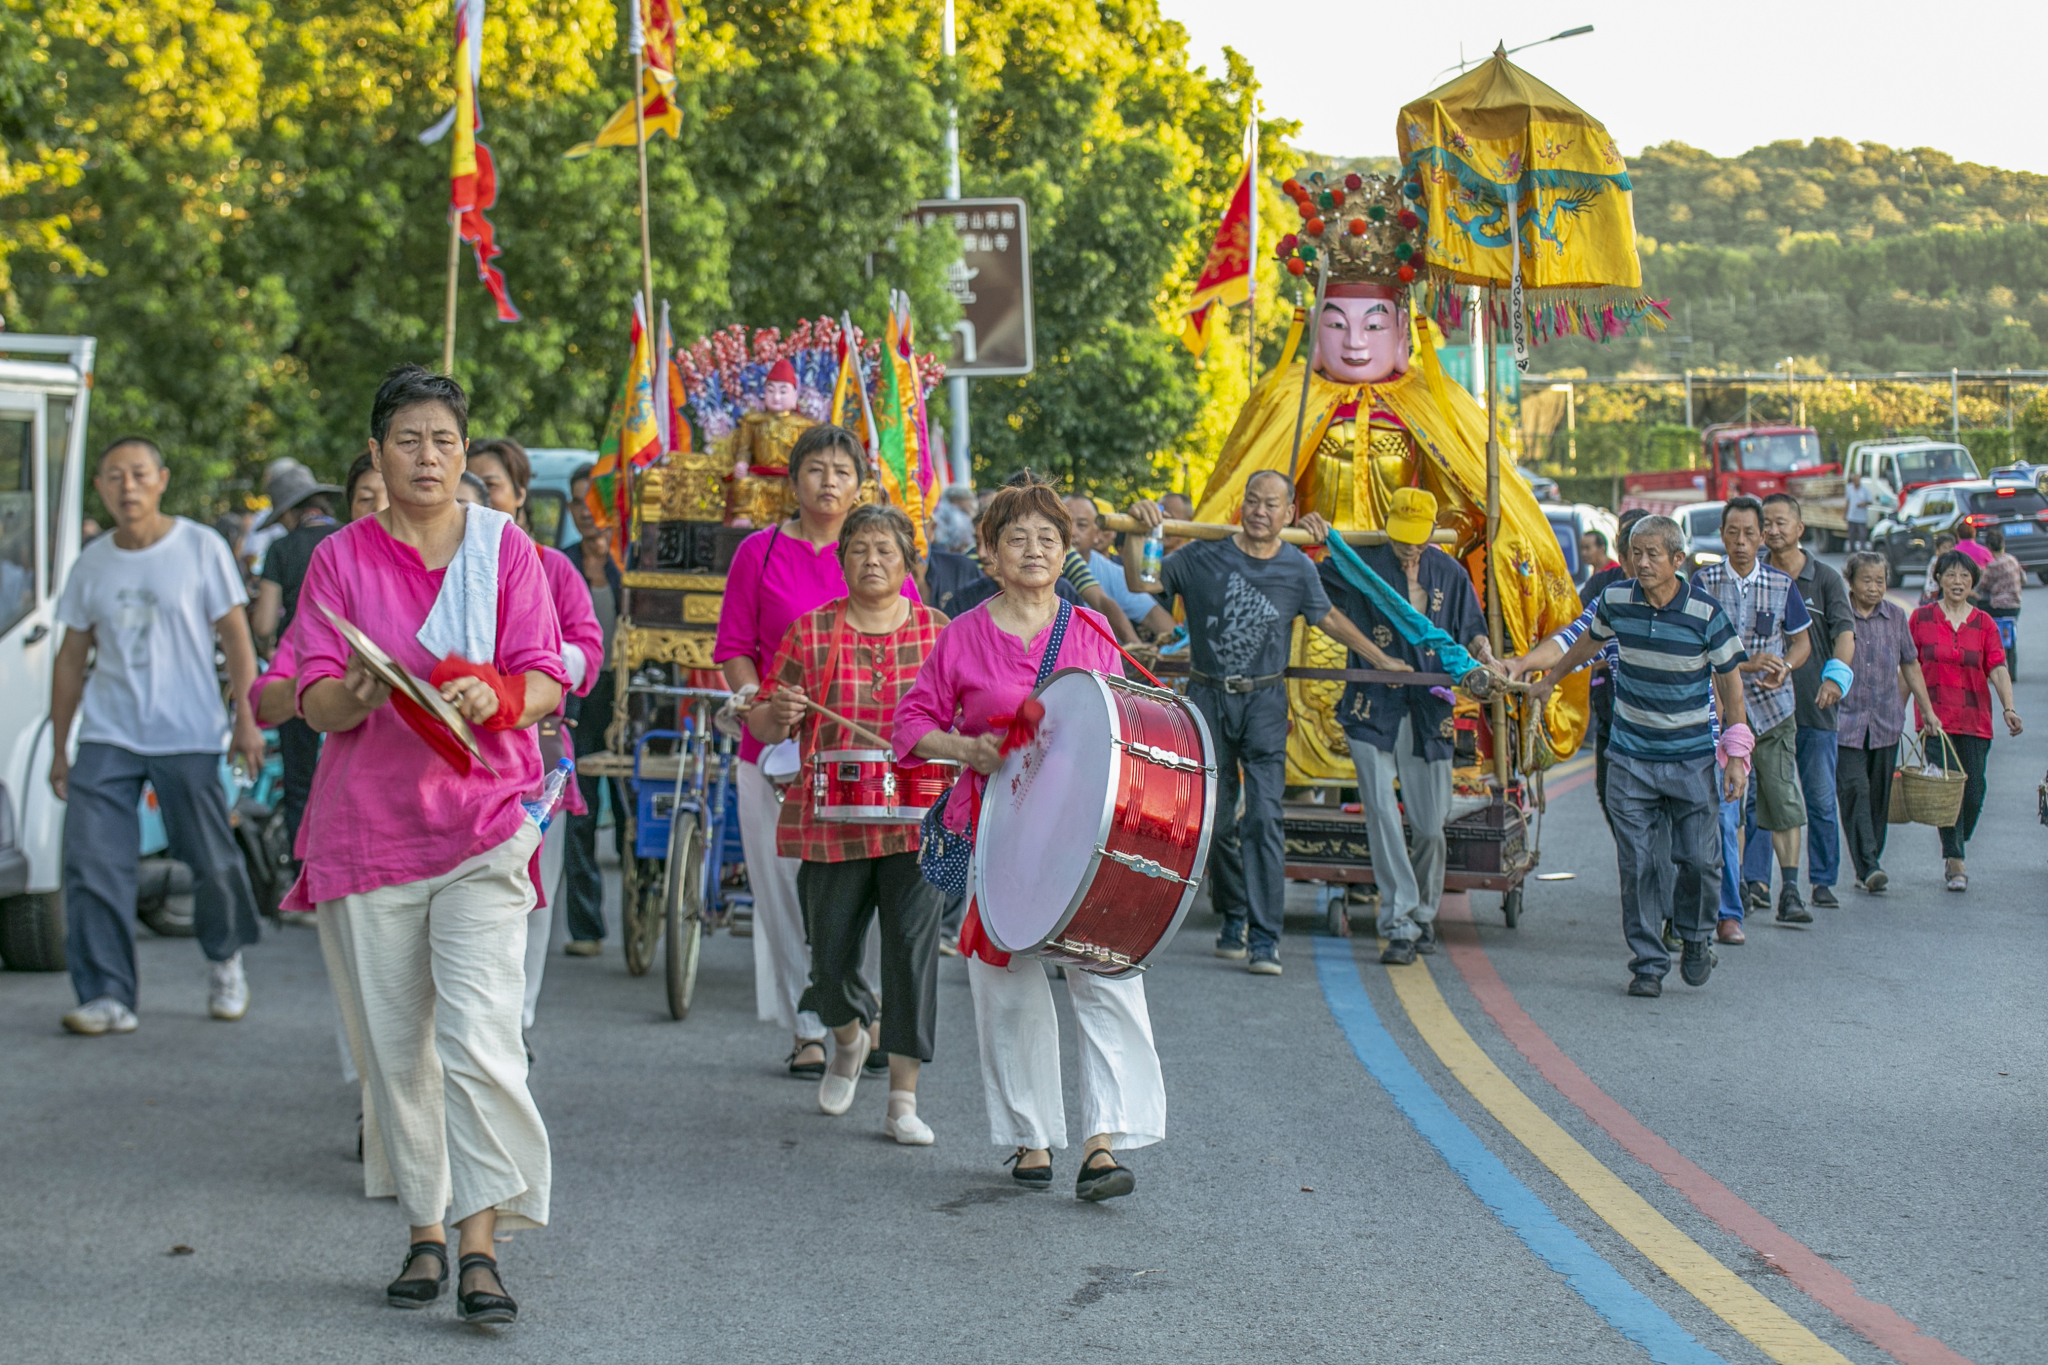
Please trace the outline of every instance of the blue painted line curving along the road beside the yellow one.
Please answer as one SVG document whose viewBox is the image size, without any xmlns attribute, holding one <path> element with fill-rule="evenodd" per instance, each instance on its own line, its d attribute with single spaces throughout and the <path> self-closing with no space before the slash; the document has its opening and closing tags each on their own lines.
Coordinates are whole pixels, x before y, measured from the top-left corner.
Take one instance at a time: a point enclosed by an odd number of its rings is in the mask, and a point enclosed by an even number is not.
<svg viewBox="0 0 2048 1365">
<path fill-rule="evenodd" d="M 1608 1324 L 1642 1347 L 1653 1361 L 1669 1365 L 1726 1365 L 1700 1340 L 1681 1328 L 1671 1314 L 1657 1308 L 1640 1289 L 1622 1279 L 1608 1261 L 1567 1228 L 1536 1193 L 1516 1179 L 1487 1144 L 1450 1111 L 1421 1072 L 1407 1060 L 1393 1033 L 1380 1023 L 1358 978 L 1352 941 L 1315 939 L 1315 974 L 1323 982 L 1323 999 L 1337 1027 L 1352 1042 L 1352 1052 L 1364 1062 L 1403 1117 L 1415 1126 L 1430 1146 L 1450 1162 L 1458 1179 L 1479 1195 L 1532 1252 L 1565 1277 L 1573 1293 Z"/>
</svg>

